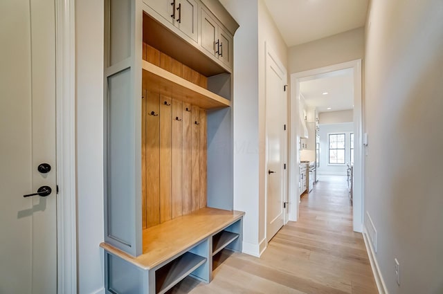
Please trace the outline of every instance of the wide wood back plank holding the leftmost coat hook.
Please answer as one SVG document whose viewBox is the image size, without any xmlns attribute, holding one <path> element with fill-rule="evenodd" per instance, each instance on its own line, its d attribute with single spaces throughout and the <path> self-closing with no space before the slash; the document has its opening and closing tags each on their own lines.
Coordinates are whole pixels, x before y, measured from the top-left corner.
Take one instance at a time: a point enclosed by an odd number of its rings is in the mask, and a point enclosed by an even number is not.
<svg viewBox="0 0 443 294">
<path fill-rule="evenodd" d="M 160 96 L 147 91 L 146 100 L 146 226 L 160 223 Z"/>
</svg>

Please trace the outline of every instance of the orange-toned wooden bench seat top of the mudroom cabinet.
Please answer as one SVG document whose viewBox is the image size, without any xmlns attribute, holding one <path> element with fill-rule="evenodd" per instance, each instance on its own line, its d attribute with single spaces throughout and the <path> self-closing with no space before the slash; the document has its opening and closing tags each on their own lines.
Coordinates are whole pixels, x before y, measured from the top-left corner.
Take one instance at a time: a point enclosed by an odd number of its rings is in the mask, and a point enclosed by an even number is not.
<svg viewBox="0 0 443 294">
<path fill-rule="evenodd" d="M 143 254 L 132 257 L 106 243 L 100 244 L 108 252 L 136 266 L 150 270 L 190 250 L 195 244 L 214 235 L 242 218 L 244 212 L 201 208 L 183 217 L 166 221 L 143 230 Z"/>
</svg>

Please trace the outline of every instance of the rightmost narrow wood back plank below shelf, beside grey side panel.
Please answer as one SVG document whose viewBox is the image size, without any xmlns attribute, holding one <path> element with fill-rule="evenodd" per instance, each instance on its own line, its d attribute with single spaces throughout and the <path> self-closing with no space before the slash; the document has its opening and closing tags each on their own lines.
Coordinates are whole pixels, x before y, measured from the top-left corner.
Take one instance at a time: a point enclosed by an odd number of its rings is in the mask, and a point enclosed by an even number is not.
<svg viewBox="0 0 443 294">
<path fill-rule="evenodd" d="M 200 109 L 200 208 L 208 205 L 208 120 Z"/>
</svg>

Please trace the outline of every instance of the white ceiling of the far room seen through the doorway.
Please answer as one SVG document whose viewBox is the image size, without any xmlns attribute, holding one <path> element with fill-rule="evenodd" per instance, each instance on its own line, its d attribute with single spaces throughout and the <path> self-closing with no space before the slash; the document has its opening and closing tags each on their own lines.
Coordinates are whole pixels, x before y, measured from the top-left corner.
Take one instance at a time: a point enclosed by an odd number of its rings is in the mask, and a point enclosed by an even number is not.
<svg viewBox="0 0 443 294">
<path fill-rule="evenodd" d="M 300 93 L 308 108 L 318 112 L 339 111 L 354 107 L 354 79 L 352 68 L 332 71 L 304 78 L 300 82 Z M 328 92 L 327 95 L 323 95 Z M 327 109 L 330 107 L 331 109 Z"/>
</svg>

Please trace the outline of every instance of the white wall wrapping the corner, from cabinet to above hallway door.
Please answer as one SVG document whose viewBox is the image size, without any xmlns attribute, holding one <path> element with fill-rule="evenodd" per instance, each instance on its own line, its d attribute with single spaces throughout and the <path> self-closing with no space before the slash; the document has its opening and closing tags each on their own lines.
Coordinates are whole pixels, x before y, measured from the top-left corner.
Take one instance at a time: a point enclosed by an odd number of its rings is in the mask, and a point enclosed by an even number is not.
<svg viewBox="0 0 443 294">
<path fill-rule="evenodd" d="M 258 256 L 266 246 L 264 42 L 284 65 L 287 47 L 262 0 L 220 2 L 240 25 L 234 36 L 234 209 L 246 212 L 244 252 Z"/>
</svg>

